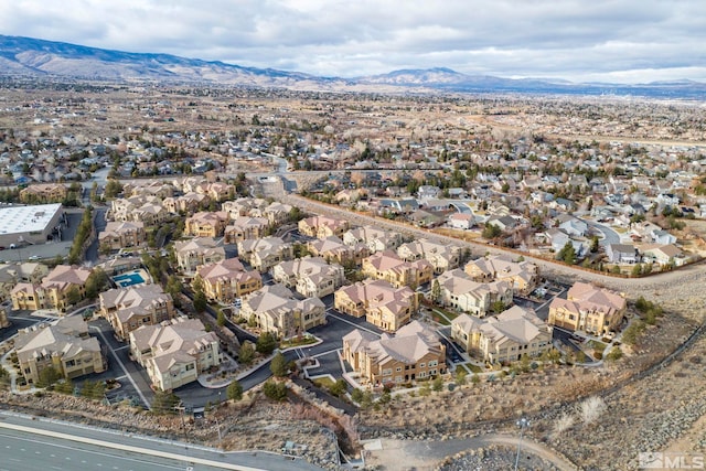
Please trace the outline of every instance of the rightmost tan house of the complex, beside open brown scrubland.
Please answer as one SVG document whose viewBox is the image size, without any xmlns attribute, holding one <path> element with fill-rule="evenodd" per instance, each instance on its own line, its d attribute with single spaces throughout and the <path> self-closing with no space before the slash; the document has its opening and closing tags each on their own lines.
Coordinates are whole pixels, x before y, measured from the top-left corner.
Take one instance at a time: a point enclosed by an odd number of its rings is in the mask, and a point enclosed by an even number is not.
<svg viewBox="0 0 706 471">
<path fill-rule="evenodd" d="M 601 335 L 618 330 L 627 306 L 625 298 L 614 291 L 576 282 L 568 290 L 567 299 L 554 298 L 548 323 Z"/>
</svg>

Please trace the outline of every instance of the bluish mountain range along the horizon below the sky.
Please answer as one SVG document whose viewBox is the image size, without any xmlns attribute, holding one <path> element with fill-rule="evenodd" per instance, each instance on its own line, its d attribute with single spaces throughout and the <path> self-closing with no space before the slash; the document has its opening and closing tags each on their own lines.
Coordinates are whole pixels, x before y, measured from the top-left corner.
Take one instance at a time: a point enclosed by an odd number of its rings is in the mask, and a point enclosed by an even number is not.
<svg viewBox="0 0 706 471">
<path fill-rule="evenodd" d="M 403 69 L 355 78 L 320 77 L 274 68 L 244 67 L 170 54 L 129 53 L 22 36 L 0 35 L 0 76 L 113 82 L 201 83 L 335 92 L 517 93 L 706 98 L 692 81 L 639 85 L 512 79 L 467 75 L 446 67 Z"/>
</svg>

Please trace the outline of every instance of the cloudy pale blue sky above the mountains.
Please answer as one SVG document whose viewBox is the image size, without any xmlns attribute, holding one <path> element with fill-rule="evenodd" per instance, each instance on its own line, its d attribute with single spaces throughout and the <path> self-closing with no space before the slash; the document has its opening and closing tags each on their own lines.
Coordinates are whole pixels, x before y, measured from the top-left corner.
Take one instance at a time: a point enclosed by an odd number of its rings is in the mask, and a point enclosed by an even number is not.
<svg viewBox="0 0 706 471">
<path fill-rule="evenodd" d="M 706 82 L 705 0 L 14 0 L 0 34 L 341 77 Z"/>
</svg>

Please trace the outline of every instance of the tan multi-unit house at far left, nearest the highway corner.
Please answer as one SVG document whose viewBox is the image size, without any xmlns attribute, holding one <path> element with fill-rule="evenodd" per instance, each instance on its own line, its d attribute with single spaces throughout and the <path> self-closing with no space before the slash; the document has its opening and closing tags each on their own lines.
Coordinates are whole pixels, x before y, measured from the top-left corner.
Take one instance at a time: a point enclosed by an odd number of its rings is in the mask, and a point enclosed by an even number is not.
<svg viewBox="0 0 706 471">
<path fill-rule="evenodd" d="M 49 367 L 68 379 L 103 373 L 107 367 L 98 340 L 88 335 L 88 324 L 81 315 L 21 329 L 14 347 L 20 373 L 30 384 L 39 383 Z"/>
</svg>

